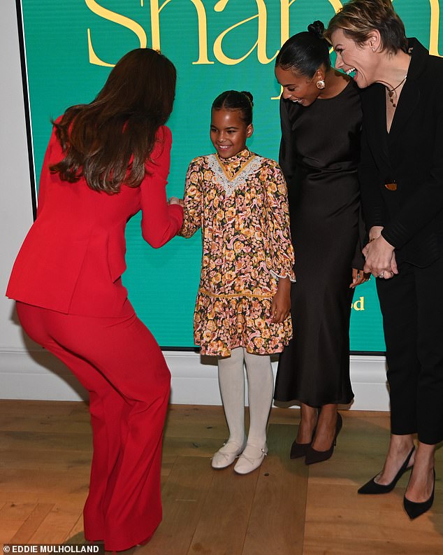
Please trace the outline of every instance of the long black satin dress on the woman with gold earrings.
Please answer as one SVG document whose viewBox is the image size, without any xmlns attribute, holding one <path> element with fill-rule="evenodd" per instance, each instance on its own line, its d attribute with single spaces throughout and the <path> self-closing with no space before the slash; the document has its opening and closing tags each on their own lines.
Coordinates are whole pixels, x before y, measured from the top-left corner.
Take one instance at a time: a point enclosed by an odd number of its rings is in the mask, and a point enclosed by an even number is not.
<svg viewBox="0 0 443 555">
<path fill-rule="evenodd" d="M 348 404 L 352 267 L 359 241 L 361 104 L 350 81 L 331 99 L 303 107 L 280 101 L 279 164 L 288 183 L 296 283 L 294 337 L 279 357 L 275 400 L 311 407 Z"/>
</svg>

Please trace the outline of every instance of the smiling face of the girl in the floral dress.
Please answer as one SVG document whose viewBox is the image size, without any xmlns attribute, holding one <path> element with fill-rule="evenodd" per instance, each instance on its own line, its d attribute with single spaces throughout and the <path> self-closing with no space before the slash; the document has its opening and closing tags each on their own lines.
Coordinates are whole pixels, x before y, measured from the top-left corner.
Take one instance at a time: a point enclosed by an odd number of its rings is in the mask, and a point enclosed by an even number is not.
<svg viewBox="0 0 443 555">
<path fill-rule="evenodd" d="M 221 158 L 230 158 L 246 148 L 246 139 L 252 135 L 252 123 L 246 125 L 240 110 L 211 111 L 210 138 Z"/>
</svg>

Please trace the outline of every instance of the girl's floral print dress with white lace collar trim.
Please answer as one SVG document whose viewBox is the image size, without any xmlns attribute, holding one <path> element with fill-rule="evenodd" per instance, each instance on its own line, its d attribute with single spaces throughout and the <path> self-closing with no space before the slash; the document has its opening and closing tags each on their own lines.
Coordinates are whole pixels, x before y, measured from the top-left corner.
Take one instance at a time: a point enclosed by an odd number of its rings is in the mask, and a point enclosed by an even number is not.
<svg viewBox="0 0 443 555">
<path fill-rule="evenodd" d="M 192 160 L 180 235 L 201 227 L 203 257 L 194 339 L 205 355 L 231 349 L 279 353 L 292 337 L 291 316 L 273 323 L 279 277 L 293 273 L 286 182 L 277 162 L 247 148 L 230 158 Z"/>
</svg>

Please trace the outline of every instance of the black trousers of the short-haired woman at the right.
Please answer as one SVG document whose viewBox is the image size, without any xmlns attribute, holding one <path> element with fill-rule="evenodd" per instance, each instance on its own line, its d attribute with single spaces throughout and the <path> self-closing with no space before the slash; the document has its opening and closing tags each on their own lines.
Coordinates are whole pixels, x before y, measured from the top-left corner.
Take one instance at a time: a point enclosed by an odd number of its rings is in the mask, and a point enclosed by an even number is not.
<svg viewBox="0 0 443 555">
<path fill-rule="evenodd" d="M 391 432 L 443 439 L 443 257 L 426 268 L 402 262 L 377 279 L 383 315 Z"/>
</svg>

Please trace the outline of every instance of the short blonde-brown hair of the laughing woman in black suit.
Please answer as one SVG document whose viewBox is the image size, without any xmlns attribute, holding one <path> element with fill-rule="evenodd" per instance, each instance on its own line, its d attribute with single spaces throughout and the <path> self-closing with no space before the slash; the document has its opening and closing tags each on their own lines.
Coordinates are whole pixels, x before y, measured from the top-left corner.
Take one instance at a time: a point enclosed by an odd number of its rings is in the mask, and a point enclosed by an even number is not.
<svg viewBox="0 0 443 555">
<path fill-rule="evenodd" d="M 405 25 L 395 13 L 391 0 L 351 0 L 334 15 L 325 31 L 325 38 L 337 29 L 361 45 L 368 40 L 371 31 L 379 31 L 382 38 L 382 51 L 407 52 Z"/>
</svg>

